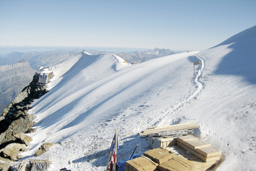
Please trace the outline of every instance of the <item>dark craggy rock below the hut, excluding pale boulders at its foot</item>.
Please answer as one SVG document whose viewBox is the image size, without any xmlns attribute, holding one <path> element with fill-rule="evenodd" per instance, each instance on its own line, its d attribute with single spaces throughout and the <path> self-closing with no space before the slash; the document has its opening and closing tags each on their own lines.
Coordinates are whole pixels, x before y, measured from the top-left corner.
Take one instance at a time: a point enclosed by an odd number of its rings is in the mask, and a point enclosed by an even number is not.
<svg viewBox="0 0 256 171">
<path fill-rule="evenodd" d="M 26 141 L 21 141 L 14 135 L 28 132 L 28 129 L 35 125 L 35 115 L 28 114 L 28 110 L 32 108 L 30 103 L 47 92 L 45 86 L 37 85 L 38 78 L 38 74 L 35 74 L 29 86 L 26 86 L 8 105 L 8 108 L 3 110 L 0 117 L 0 149 L 10 143 L 26 143 L 28 145 L 31 141 L 29 138 L 26 138 Z"/>
</svg>

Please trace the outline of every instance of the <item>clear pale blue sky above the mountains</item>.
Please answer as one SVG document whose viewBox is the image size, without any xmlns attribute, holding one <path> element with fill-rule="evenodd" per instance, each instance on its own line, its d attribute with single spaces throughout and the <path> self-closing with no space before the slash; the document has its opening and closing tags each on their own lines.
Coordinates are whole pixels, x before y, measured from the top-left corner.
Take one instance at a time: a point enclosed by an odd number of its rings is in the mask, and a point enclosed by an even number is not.
<svg viewBox="0 0 256 171">
<path fill-rule="evenodd" d="M 255 25 L 255 0 L 0 0 L 0 46 L 205 50 Z"/>
</svg>

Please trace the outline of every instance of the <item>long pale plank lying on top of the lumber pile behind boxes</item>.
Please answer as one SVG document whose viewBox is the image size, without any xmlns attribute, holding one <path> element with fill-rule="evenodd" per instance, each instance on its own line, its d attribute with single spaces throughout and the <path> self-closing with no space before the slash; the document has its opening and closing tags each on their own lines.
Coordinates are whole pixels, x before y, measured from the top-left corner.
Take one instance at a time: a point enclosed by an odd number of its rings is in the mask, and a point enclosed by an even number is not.
<svg viewBox="0 0 256 171">
<path fill-rule="evenodd" d="M 196 128 L 199 128 L 199 126 L 196 125 L 196 123 L 181 123 L 181 124 L 170 125 L 162 128 L 147 129 L 143 132 L 140 132 L 139 134 L 140 136 L 142 136 L 142 135 L 156 134 L 158 132 L 175 131 L 175 130 L 191 130 Z"/>
</svg>

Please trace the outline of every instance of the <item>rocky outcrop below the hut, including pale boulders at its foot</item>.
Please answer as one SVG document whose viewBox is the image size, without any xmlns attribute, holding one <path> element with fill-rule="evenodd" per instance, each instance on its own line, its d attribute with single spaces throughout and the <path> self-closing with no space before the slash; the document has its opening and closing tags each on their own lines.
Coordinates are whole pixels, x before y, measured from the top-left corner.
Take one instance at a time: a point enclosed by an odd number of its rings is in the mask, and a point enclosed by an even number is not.
<svg viewBox="0 0 256 171">
<path fill-rule="evenodd" d="M 1 157 L 12 161 L 20 159 L 19 153 L 32 141 L 31 137 L 24 134 L 24 132 L 30 132 L 30 127 L 35 125 L 35 115 L 28 114 L 28 110 L 32 108 L 30 103 L 47 92 L 45 86 L 37 86 L 37 81 L 38 74 L 35 74 L 30 85 L 15 97 L 12 103 L 8 105 L 8 108 L 3 110 L 0 117 Z M 10 147 L 13 150 L 10 150 Z"/>
</svg>

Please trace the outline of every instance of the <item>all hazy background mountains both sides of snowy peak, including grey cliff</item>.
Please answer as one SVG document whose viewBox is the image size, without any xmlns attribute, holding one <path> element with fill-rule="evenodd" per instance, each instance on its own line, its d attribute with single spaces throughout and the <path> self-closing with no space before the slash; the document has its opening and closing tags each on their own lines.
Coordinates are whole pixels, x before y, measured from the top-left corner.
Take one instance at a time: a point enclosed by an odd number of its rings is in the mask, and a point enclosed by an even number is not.
<svg viewBox="0 0 256 171">
<path fill-rule="evenodd" d="M 28 86 L 40 66 L 56 66 L 68 61 L 83 50 L 54 50 L 45 52 L 11 52 L 0 57 L 0 112 Z M 107 54 L 107 51 L 86 50 L 90 54 Z M 170 49 L 122 52 L 118 56 L 129 63 L 141 63 L 174 54 Z"/>
</svg>

